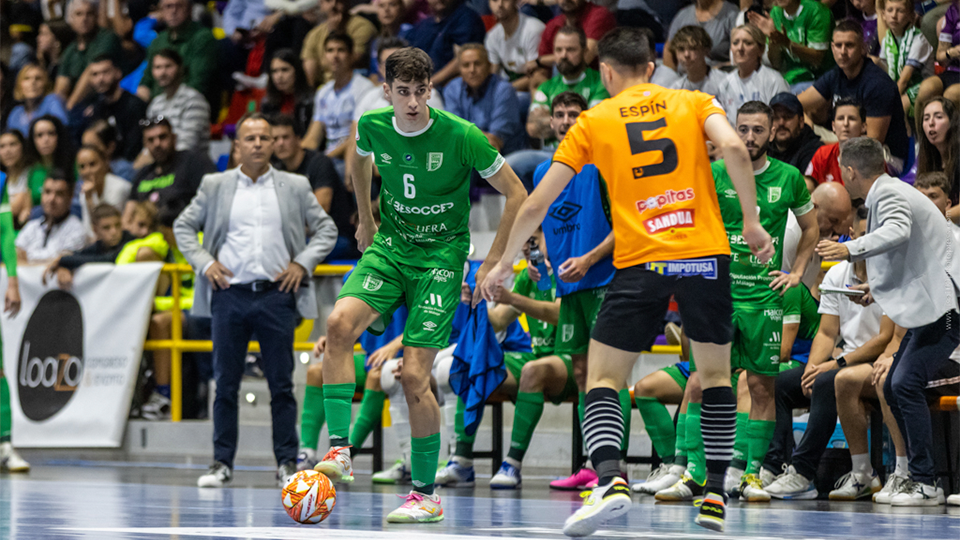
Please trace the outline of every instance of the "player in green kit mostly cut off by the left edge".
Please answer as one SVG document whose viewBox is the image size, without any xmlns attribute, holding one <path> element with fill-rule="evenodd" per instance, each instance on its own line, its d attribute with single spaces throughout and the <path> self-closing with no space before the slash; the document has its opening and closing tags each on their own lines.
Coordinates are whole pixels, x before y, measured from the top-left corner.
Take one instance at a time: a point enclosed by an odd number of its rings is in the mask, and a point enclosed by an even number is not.
<svg viewBox="0 0 960 540">
<path fill-rule="evenodd" d="M 17 281 L 17 251 L 13 245 L 16 236 L 13 230 L 13 214 L 10 211 L 10 198 L 7 195 L 6 178 L 0 179 L 0 253 L 7 268 L 7 293 L 3 311 L 14 316 L 20 311 L 20 286 Z M 0 344 L 2 345 L 2 344 Z M 27 472 L 30 464 L 13 448 L 10 441 L 11 412 L 10 387 L 3 373 L 3 349 L 0 348 L 0 470 L 9 472 Z"/>
</svg>

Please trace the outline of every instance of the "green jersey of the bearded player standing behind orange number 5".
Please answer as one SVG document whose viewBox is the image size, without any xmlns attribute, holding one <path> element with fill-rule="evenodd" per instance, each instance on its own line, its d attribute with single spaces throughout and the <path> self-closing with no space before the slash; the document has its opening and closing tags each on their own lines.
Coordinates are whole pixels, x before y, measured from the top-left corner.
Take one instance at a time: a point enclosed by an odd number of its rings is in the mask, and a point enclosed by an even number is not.
<svg viewBox="0 0 960 540">
<path fill-rule="evenodd" d="M 782 305 L 780 293 L 770 288 L 774 279 L 770 272 L 780 270 L 783 261 L 787 212 L 792 211 L 799 217 L 813 210 L 813 202 L 803 176 L 796 167 L 769 157 L 767 164 L 753 173 L 757 185 L 760 224 L 770 233 L 776 250 L 767 264 L 762 264 L 750 253 L 750 247 L 741 234 L 743 212 L 740 210 L 740 199 L 727 173 L 726 164 L 722 160 L 717 161 L 712 165 L 712 169 L 720 214 L 723 215 L 723 225 L 730 241 L 730 292 L 734 304 Z"/>
</svg>

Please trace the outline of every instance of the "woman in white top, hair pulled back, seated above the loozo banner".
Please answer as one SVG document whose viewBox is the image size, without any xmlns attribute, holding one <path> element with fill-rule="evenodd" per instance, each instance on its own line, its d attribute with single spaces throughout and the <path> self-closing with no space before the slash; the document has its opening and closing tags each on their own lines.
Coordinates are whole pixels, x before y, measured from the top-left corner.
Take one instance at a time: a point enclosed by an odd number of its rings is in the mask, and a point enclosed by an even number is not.
<svg viewBox="0 0 960 540">
<path fill-rule="evenodd" d="M 101 204 L 123 209 L 130 197 L 130 182 L 110 172 L 107 157 L 95 146 L 83 146 L 77 152 L 77 172 L 80 176 L 80 219 L 91 237 L 93 210 Z"/>
</svg>

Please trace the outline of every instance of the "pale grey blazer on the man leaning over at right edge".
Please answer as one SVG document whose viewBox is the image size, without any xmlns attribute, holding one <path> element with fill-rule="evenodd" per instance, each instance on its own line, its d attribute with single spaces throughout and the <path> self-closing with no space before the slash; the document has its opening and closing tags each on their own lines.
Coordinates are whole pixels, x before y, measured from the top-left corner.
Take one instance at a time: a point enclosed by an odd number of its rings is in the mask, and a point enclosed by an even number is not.
<svg viewBox="0 0 960 540">
<path fill-rule="evenodd" d="M 926 195 L 882 175 L 866 200 L 867 234 L 846 243 L 866 259 L 873 298 L 904 328 L 935 322 L 957 309 L 960 252 L 946 218 Z"/>
</svg>

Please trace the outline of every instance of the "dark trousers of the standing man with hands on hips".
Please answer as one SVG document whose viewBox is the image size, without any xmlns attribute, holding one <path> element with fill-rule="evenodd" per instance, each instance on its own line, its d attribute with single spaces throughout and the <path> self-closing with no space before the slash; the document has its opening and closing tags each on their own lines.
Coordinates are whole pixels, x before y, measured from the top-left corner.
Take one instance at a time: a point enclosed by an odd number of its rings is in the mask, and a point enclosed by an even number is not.
<svg viewBox="0 0 960 540">
<path fill-rule="evenodd" d="M 210 303 L 213 334 L 213 457 L 233 467 L 237 453 L 237 397 L 243 379 L 247 343 L 260 341 L 262 368 L 270 387 L 273 453 L 277 464 L 297 457 L 297 402 L 293 397 L 293 332 L 297 303 L 293 293 L 260 292 L 241 286 L 214 291 Z"/>
</svg>

